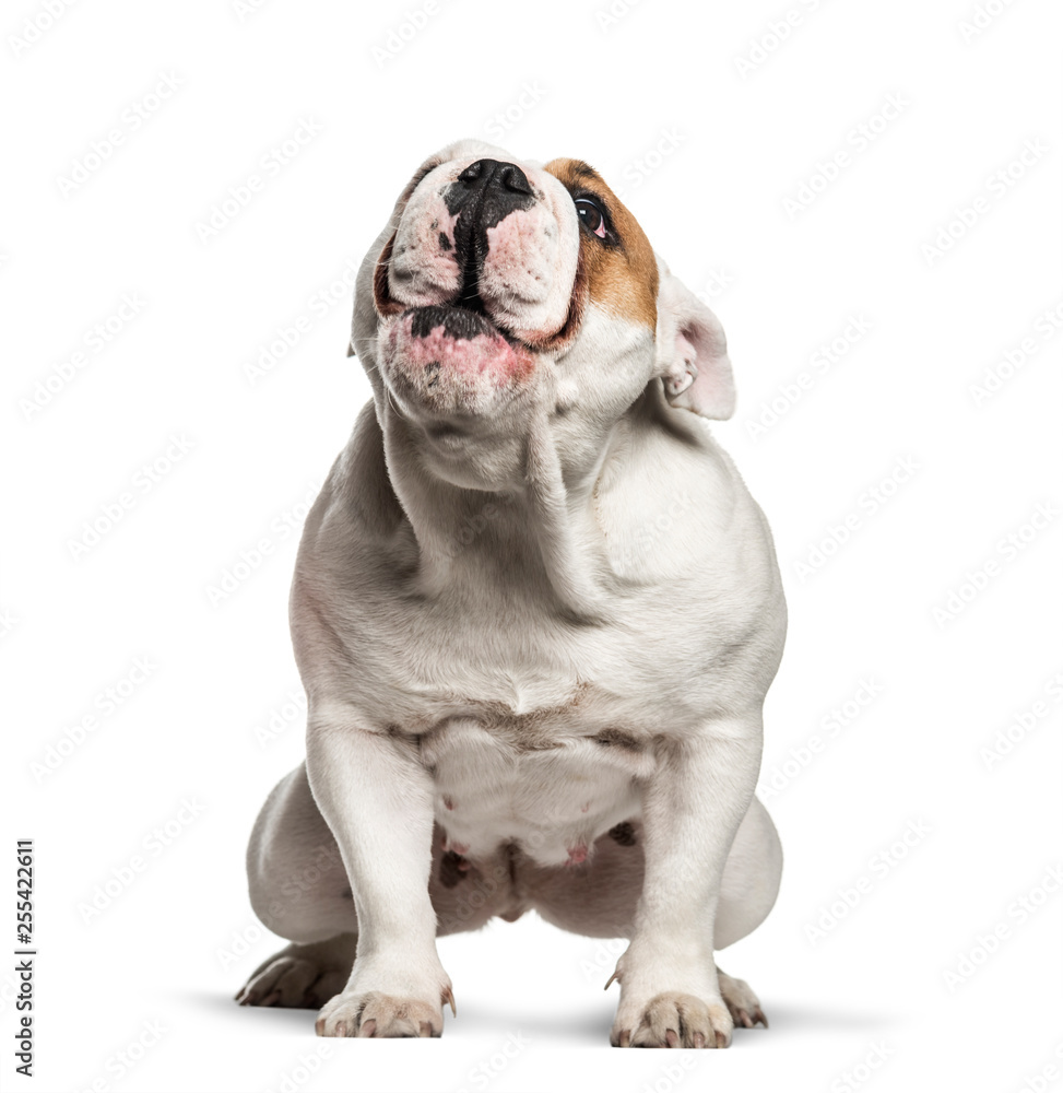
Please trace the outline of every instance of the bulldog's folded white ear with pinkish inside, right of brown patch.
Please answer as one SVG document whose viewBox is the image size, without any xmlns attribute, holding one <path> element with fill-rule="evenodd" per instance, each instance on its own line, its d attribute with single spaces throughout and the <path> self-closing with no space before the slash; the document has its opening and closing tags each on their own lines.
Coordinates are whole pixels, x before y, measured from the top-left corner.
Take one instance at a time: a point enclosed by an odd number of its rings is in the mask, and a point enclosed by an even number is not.
<svg viewBox="0 0 1063 1093">
<path fill-rule="evenodd" d="M 657 362 L 673 407 L 702 418 L 734 413 L 734 375 L 720 320 L 658 259 Z"/>
</svg>

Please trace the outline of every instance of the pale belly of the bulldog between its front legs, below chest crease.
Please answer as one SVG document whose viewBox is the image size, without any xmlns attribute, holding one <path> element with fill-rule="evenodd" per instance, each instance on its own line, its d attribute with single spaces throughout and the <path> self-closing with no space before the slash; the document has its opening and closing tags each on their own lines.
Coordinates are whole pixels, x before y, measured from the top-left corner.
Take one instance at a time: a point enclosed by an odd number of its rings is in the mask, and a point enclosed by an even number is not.
<svg viewBox="0 0 1063 1093">
<path fill-rule="evenodd" d="M 421 740 L 435 780 L 435 818 L 446 848 L 487 857 L 516 844 L 544 866 L 584 861 L 594 839 L 639 812 L 635 779 L 654 765 L 637 741 L 617 733 L 536 734 L 452 719 Z"/>
</svg>

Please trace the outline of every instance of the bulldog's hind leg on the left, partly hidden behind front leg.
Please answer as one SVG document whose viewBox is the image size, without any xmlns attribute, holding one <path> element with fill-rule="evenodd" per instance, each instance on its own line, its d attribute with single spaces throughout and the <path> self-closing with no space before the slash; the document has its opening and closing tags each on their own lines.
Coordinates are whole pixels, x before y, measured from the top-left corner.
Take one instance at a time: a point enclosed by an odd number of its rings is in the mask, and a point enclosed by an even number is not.
<svg viewBox="0 0 1063 1093">
<path fill-rule="evenodd" d="M 346 870 L 310 792 L 306 766 L 270 794 L 247 850 L 255 913 L 292 944 L 256 968 L 236 996 L 241 1006 L 320 1009 L 344 987 L 358 940 Z M 433 838 L 428 894 L 437 935 L 480 929 L 509 906 L 509 867 L 501 856 L 469 862 Z"/>
</svg>

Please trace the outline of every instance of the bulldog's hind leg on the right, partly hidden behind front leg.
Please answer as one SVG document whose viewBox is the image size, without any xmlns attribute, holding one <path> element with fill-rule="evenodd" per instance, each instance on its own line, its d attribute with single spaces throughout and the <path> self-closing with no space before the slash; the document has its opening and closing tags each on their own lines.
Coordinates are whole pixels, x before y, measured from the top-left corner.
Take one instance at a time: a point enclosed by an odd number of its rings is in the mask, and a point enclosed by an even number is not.
<svg viewBox="0 0 1063 1093">
<path fill-rule="evenodd" d="M 645 871 L 640 835 L 637 822 L 619 825 L 598 839 L 591 859 L 577 870 L 524 865 L 521 889 L 546 921 L 564 930 L 597 938 L 630 938 Z M 764 921 L 775 904 L 781 871 L 779 836 L 764 806 L 754 798 L 723 869 L 714 950 L 733 944 Z M 722 972 L 719 984 L 736 1025 L 767 1026 L 748 984 Z"/>
</svg>

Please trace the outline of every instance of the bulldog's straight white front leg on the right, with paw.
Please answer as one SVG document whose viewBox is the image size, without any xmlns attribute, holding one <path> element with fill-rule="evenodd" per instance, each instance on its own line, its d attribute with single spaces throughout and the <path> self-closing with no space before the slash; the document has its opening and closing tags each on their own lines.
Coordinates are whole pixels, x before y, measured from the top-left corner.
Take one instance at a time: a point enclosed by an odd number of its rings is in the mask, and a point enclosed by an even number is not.
<svg viewBox="0 0 1063 1093">
<path fill-rule="evenodd" d="M 760 748 L 759 709 L 713 719 L 696 736 L 659 748 L 642 792 L 642 894 L 614 973 L 621 983 L 614 1047 L 731 1043 L 713 930 L 723 866 L 753 797 Z"/>
</svg>

